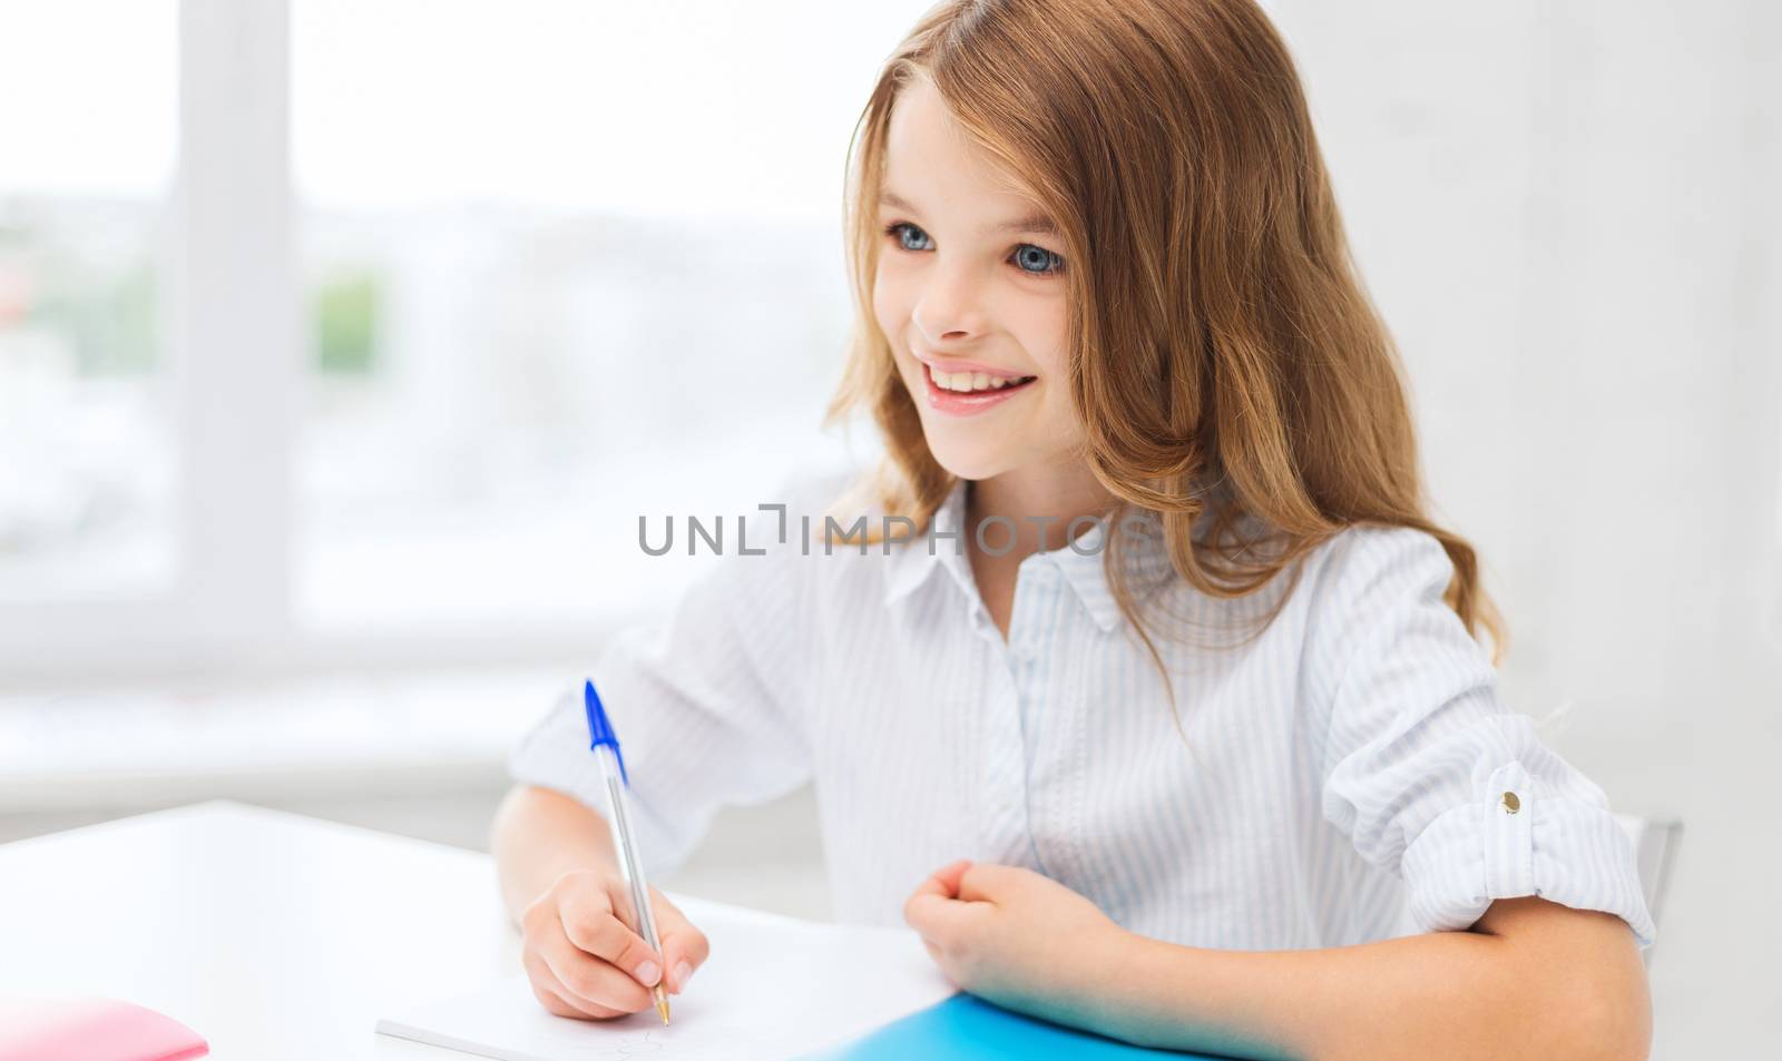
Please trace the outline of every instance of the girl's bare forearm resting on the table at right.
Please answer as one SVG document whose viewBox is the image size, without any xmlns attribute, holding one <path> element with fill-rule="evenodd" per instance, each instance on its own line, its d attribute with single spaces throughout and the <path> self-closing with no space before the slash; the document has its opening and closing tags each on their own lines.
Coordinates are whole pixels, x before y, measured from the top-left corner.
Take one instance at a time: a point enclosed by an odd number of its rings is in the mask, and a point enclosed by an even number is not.
<svg viewBox="0 0 1782 1061">
<path fill-rule="evenodd" d="M 1515 935 L 1447 931 L 1322 951 L 1126 936 L 1096 1031 L 1294 1061 L 1647 1057 L 1650 1006 L 1627 926 L 1565 913 L 1524 919 Z"/>
</svg>

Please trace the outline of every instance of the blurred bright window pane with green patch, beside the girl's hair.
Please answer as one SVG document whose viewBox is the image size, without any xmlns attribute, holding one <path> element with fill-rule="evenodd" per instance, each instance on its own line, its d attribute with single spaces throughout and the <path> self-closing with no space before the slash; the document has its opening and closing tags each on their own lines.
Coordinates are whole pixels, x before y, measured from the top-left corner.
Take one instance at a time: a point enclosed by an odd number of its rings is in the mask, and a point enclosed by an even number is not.
<svg viewBox="0 0 1782 1061">
<path fill-rule="evenodd" d="M 301 620 L 624 614 L 697 570 L 640 514 L 859 463 L 843 167 L 923 7 L 296 0 Z"/>
</svg>

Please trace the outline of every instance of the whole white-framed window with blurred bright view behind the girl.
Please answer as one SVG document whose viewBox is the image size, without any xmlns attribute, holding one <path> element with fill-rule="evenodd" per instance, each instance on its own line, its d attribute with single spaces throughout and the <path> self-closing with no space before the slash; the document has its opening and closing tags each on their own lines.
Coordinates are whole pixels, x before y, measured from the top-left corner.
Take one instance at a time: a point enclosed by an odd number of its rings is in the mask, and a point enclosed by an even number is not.
<svg viewBox="0 0 1782 1061">
<path fill-rule="evenodd" d="M 845 151 L 923 9 L 9 16 L 0 668 L 511 662 L 672 596 L 638 516 L 848 461 Z"/>
</svg>

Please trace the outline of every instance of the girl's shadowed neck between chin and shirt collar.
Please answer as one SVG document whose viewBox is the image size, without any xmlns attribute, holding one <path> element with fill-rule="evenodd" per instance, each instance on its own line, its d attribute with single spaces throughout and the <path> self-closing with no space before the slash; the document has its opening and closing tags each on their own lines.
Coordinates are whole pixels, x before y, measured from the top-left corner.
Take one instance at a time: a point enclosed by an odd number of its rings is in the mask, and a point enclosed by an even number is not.
<svg viewBox="0 0 1782 1061">
<path fill-rule="evenodd" d="M 987 518 L 1003 516 L 1014 523 L 1014 548 L 1003 559 L 1019 563 L 1035 552 L 1064 548 L 1071 520 L 1105 516 L 1117 500 L 1082 463 L 1003 472 L 968 482 L 968 539 L 971 548 L 977 548 L 978 525 Z M 1009 541 L 1009 523 L 987 527 L 984 541 L 991 548 L 1003 548 Z M 1085 530 L 1087 523 L 1078 523 L 1076 532 Z"/>
</svg>

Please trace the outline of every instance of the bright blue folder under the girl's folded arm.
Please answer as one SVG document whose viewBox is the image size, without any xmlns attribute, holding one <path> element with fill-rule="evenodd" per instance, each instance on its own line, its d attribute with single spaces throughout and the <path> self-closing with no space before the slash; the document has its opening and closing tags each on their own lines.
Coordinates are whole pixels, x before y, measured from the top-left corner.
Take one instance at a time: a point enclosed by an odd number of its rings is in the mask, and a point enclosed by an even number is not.
<svg viewBox="0 0 1782 1061">
<path fill-rule="evenodd" d="M 973 995 L 918 1009 L 852 1043 L 811 1054 L 805 1061 L 984 1061 L 989 1057 L 1082 1057 L 1085 1061 L 1215 1061 L 1208 1054 L 1176 1054 L 1117 1043 L 991 1006 Z"/>
</svg>

